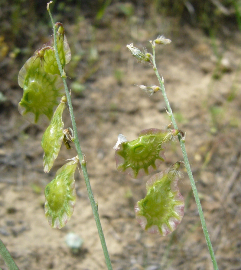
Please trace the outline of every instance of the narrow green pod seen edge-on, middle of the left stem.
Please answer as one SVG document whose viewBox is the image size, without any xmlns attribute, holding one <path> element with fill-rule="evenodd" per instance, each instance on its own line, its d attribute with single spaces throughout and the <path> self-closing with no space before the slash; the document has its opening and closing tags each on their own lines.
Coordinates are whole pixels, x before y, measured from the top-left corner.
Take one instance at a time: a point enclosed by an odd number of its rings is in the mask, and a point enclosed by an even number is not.
<svg viewBox="0 0 241 270">
<path fill-rule="evenodd" d="M 44 149 L 44 172 L 48 173 L 57 158 L 62 141 L 64 138 L 64 122 L 62 114 L 66 107 L 66 96 L 62 97 L 61 102 L 54 112 L 50 125 L 44 132 L 41 146 Z"/>
</svg>

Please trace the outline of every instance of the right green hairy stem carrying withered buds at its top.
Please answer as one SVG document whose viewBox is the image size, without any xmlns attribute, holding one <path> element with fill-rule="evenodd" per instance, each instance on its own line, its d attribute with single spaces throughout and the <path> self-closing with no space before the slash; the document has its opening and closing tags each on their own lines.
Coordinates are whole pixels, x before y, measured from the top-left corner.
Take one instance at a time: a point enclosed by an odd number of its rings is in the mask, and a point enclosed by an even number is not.
<svg viewBox="0 0 241 270">
<path fill-rule="evenodd" d="M 155 74 L 156 74 L 156 76 L 158 78 L 158 81 L 160 83 L 161 92 L 162 92 L 162 95 L 164 97 L 164 101 L 165 101 L 165 103 L 167 105 L 167 109 L 168 109 L 169 116 L 171 118 L 171 122 L 172 122 L 172 124 L 174 126 L 174 129 L 178 129 L 176 121 L 175 121 L 173 113 L 172 113 L 172 110 L 171 110 L 170 103 L 169 103 L 167 95 L 166 95 L 164 83 L 161 80 L 161 77 L 160 77 L 160 75 L 158 73 L 158 70 L 157 70 L 157 67 L 156 67 L 156 63 L 155 63 L 155 44 L 154 45 L 152 44 L 152 49 L 153 49 L 153 55 L 152 55 L 153 69 L 154 69 Z M 209 237 L 209 234 L 208 234 L 208 231 L 207 231 L 207 225 L 206 225 L 206 222 L 205 222 L 205 219 L 204 219 L 202 206 L 201 206 L 201 203 L 200 203 L 200 199 L 198 197 L 197 187 L 195 185 L 195 181 L 194 181 L 194 178 L 193 178 L 193 175 L 192 175 L 191 167 L 190 167 L 190 164 L 189 164 L 189 161 L 188 161 L 188 158 L 187 158 L 187 151 L 186 151 L 186 148 L 185 148 L 185 142 L 181 139 L 180 133 L 178 134 L 178 139 L 179 139 L 179 142 L 180 142 L 180 145 L 181 145 L 181 150 L 182 150 L 182 155 L 183 155 L 183 158 L 184 158 L 185 167 L 187 169 L 187 174 L 189 176 L 189 179 L 190 179 L 190 182 L 191 182 L 191 187 L 192 187 L 193 194 L 194 194 L 194 198 L 195 198 L 195 201 L 196 201 L 196 204 L 197 204 L 197 210 L 198 210 L 198 213 L 199 213 L 199 216 L 200 216 L 204 236 L 205 236 L 205 239 L 206 239 L 206 242 L 207 242 L 207 247 L 208 247 L 212 262 L 213 262 L 213 268 L 215 270 L 218 270 L 217 261 L 216 261 L 216 258 L 215 258 L 214 252 L 213 252 L 213 246 L 212 246 L 211 241 L 210 241 L 210 237 Z"/>
</svg>

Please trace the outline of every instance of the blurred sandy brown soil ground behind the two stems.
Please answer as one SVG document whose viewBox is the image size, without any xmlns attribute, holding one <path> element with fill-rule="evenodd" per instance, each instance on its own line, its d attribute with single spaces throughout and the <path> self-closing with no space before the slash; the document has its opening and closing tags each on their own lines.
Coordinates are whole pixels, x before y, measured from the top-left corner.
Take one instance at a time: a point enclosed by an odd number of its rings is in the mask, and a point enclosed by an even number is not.
<svg viewBox="0 0 241 270">
<path fill-rule="evenodd" d="M 171 20 L 166 24 L 170 27 Z M 157 84 L 154 71 L 148 64 L 137 63 L 126 49 L 126 44 L 134 42 L 150 50 L 147 40 L 164 33 L 173 42 L 157 48 L 158 70 L 178 127 L 187 131 L 187 153 L 219 269 L 238 270 L 241 37 L 230 33 L 223 40 L 216 39 L 215 54 L 213 41 L 201 31 L 184 26 L 171 35 L 165 26 L 160 18 L 155 27 L 130 25 L 122 18 L 113 19 L 108 28 L 93 29 L 88 20 L 65 25 L 73 54 L 73 62 L 66 66 L 72 77 L 68 83 L 73 90 L 77 84 L 86 87 L 72 92 L 73 107 L 113 269 L 212 269 L 184 167 L 179 183 L 186 203 L 184 218 L 174 233 L 157 237 L 141 229 L 133 211 L 135 202 L 146 194 L 149 176 L 131 179 L 115 166 L 113 146 L 119 133 L 130 141 L 142 129 L 163 129 L 170 123 L 161 94 L 148 97 L 135 86 Z M 22 95 L 18 68 L 24 62 L 13 66 L 8 56 L 3 61 L 7 64 L 1 65 L 0 85 L 8 100 L 0 104 L 0 237 L 23 270 L 106 269 L 83 175 L 78 171 L 77 202 L 70 221 L 55 230 L 45 219 L 44 187 L 64 164 L 63 159 L 76 152 L 63 145 L 50 173 L 43 172 L 40 142 L 44 127 L 25 122 L 17 109 Z M 67 110 L 64 123 L 65 128 L 70 126 Z M 165 156 L 158 171 L 182 159 L 178 141 L 166 145 Z M 65 243 L 69 232 L 84 240 L 77 254 Z M 2 259 L 0 267 L 7 269 Z"/>
</svg>

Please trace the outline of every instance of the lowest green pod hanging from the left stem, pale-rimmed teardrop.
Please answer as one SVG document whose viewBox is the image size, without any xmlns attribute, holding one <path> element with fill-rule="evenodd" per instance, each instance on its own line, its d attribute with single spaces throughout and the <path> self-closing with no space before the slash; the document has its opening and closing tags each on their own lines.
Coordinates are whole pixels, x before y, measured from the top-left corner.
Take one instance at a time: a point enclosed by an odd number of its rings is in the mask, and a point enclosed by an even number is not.
<svg viewBox="0 0 241 270">
<path fill-rule="evenodd" d="M 64 227 L 73 214 L 76 191 L 74 172 L 79 162 L 78 156 L 62 166 L 55 178 L 46 186 L 45 216 L 52 228 Z"/>
</svg>

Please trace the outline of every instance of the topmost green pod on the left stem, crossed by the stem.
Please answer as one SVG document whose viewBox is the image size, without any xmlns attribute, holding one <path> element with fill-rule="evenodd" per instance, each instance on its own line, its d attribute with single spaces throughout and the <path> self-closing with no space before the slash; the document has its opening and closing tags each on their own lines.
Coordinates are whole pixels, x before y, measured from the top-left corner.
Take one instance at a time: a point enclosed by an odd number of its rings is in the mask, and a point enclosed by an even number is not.
<svg viewBox="0 0 241 270">
<path fill-rule="evenodd" d="M 46 46 L 54 47 L 54 39 L 50 40 L 50 42 L 45 44 L 42 48 Z M 57 48 L 58 48 L 60 63 L 62 65 L 62 68 L 64 69 L 64 66 L 68 64 L 68 62 L 70 62 L 70 59 L 71 59 L 70 46 L 66 39 L 66 36 L 59 35 L 59 37 L 57 37 Z M 50 74 L 60 75 L 57 60 L 55 57 L 55 52 L 52 49 L 45 50 L 44 71 Z"/>
</svg>

